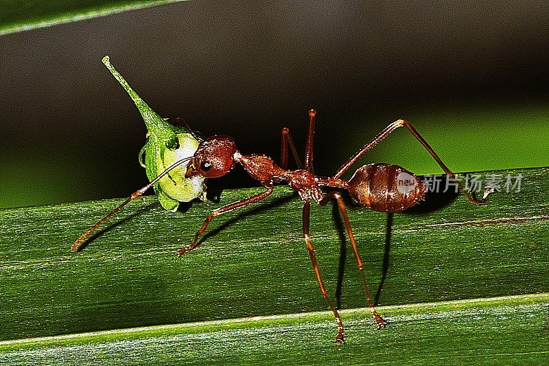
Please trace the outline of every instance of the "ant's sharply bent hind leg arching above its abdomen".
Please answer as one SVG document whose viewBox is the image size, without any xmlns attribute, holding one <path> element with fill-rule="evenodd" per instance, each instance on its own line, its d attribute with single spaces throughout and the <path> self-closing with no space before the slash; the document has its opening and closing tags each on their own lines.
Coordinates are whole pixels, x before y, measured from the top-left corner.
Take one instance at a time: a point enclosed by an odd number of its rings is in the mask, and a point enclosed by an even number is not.
<svg viewBox="0 0 549 366">
<path fill-rule="evenodd" d="M 461 185 L 461 183 L 459 181 L 457 181 L 456 174 L 454 174 L 451 170 L 448 169 L 448 167 L 445 165 L 445 163 L 443 163 L 443 161 L 441 160 L 439 155 L 436 155 L 436 152 L 434 152 L 434 150 L 431 148 L 431 146 L 429 146 L 429 144 L 427 144 L 427 141 L 425 141 L 425 139 L 423 139 L 423 137 L 421 137 L 421 135 L 419 135 L 417 130 L 412 126 L 412 124 L 410 124 L 410 122 L 408 122 L 408 121 L 405 121 L 404 119 L 398 119 L 397 121 L 393 122 L 392 124 L 390 124 L 386 128 L 384 128 L 382 130 L 382 132 L 380 132 L 379 135 L 377 135 L 372 141 L 370 141 L 368 144 L 364 145 L 364 147 L 362 149 L 358 150 L 358 152 L 355 155 L 350 157 L 341 166 L 341 168 L 339 168 L 338 172 L 336 172 L 336 175 L 334 175 L 334 178 L 340 178 L 345 172 L 347 172 L 347 170 L 349 170 L 349 168 L 351 168 L 351 165 L 356 163 L 356 161 L 358 161 L 358 159 L 360 159 L 364 154 L 366 154 L 366 152 L 368 152 L 374 146 L 376 146 L 379 143 L 379 141 L 382 141 L 382 139 L 384 139 L 385 137 L 390 135 L 390 133 L 393 133 L 393 131 L 395 131 L 397 128 L 404 127 L 404 126 L 406 126 L 406 128 L 408 128 L 408 130 L 410 130 L 410 133 L 412 133 L 412 135 L 414 135 L 414 137 L 417 139 L 417 141 L 419 141 L 419 143 L 421 145 L 423 145 L 425 150 L 427 150 L 429 152 L 429 154 L 433 157 L 433 159 L 436 161 L 436 163 L 439 164 L 439 166 L 442 168 L 442 170 L 444 170 L 444 172 L 446 174 L 448 174 L 452 179 L 456 180 L 456 183 L 458 183 L 458 186 L 460 187 L 460 190 L 465 194 L 465 196 L 467 197 L 467 199 L 469 201 L 471 201 L 472 203 L 475 203 L 476 205 L 480 205 L 481 203 L 486 202 L 486 198 L 489 194 L 489 191 L 485 191 L 484 195 L 482 196 L 482 199 L 480 199 L 480 200 L 477 200 L 476 198 L 473 198 L 469 193 L 467 193 L 467 191 L 465 190 L 463 185 Z"/>
</svg>

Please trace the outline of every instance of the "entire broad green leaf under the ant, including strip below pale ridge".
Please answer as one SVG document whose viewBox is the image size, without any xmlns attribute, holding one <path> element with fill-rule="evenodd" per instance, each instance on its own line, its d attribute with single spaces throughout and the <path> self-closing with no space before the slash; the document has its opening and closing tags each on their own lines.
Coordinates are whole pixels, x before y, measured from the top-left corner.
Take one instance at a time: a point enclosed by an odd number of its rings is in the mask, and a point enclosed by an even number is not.
<svg viewBox="0 0 549 366">
<path fill-rule="evenodd" d="M 0 363 L 539 364 L 549 350 L 549 168 L 479 174 L 522 174 L 522 185 L 479 206 L 463 194 L 434 211 L 425 201 L 423 212 L 395 214 L 390 225 L 385 214 L 349 207 L 373 293 L 388 255 L 377 311 L 389 326 L 376 330 L 364 308 L 349 250 L 344 345 L 333 343 L 336 324 L 302 238 L 303 203 L 288 187 L 214 218 L 200 247 L 180 258 L 176 249 L 211 209 L 262 189 L 227 190 L 185 212 L 138 199 L 81 253 L 70 252 L 73 241 L 119 200 L 3 209 Z M 334 301 L 337 217 L 312 207 Z M 268 318 L 242 319 L 255 316 Z M 145 328 L 113 330 L 134 327 Z"/>
</svg>

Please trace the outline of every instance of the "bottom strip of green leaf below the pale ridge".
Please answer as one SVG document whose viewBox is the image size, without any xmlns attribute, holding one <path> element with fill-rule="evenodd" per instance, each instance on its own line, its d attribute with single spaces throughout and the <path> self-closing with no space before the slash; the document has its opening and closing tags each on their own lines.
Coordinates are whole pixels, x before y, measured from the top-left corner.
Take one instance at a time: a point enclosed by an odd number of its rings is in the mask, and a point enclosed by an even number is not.
<svg viewBox="0 0 549 366">
<path fill-rule="evenodd" d="M 395 306 L 377 331 L 369 310 L 314 312 L 0 342 L 0 362 L 177 365 L 543 365 L 549 294 Z M 535 323 L 537 319 L 545 322 Z"/>
</svg>

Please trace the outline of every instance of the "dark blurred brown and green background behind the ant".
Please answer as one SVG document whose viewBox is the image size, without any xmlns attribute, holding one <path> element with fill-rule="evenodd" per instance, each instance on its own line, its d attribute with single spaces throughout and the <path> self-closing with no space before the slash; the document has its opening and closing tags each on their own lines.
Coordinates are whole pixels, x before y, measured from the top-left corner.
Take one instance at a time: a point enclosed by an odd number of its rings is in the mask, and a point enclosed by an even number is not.
<svg viewBox="0 0 549 366">
<path fill-rule="evenodd" d="M 318 111 L 317 174 L 398 118 L 455 171 L 549 165 L 542 2 L 188 1 L 0 36 L 0 207 L 128 196 L 145 126 L 101 62 L 164 117 L 279 157 Z M 440 168 L 405 130 L 364 158 Z M 241 169 L 209 184 L 255 184 Z"/>
</svg>

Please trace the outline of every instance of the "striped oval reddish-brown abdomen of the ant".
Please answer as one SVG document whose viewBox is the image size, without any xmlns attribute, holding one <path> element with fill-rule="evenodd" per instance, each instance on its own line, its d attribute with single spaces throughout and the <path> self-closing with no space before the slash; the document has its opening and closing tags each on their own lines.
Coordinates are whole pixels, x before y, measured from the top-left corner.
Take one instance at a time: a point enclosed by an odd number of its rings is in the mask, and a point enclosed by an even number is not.
<svg viewBox="0 0 549 366">
<path fill-rule="evenodd" d="M 423 199 L 425 185 L 416 175 L 399 165 L 363 165 L 348 181 L 351 196 L 369 209 L 398 212 Z"/>
</svg>

